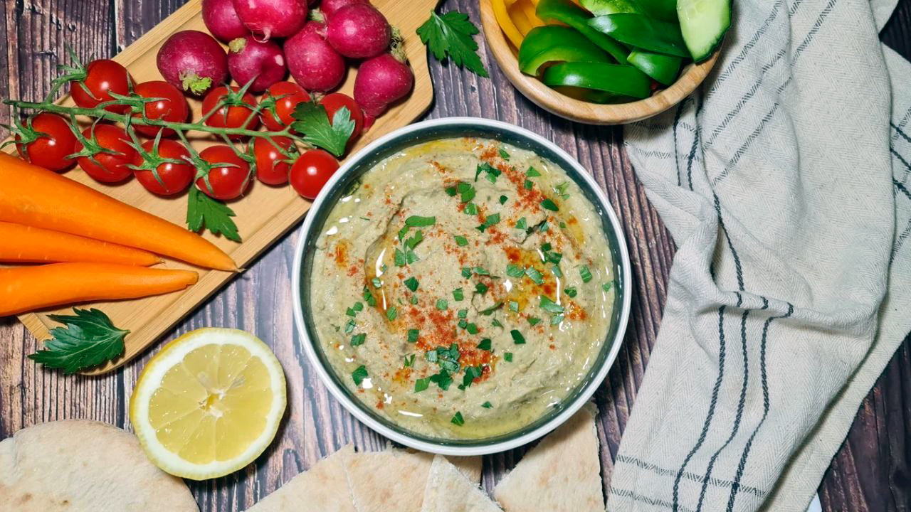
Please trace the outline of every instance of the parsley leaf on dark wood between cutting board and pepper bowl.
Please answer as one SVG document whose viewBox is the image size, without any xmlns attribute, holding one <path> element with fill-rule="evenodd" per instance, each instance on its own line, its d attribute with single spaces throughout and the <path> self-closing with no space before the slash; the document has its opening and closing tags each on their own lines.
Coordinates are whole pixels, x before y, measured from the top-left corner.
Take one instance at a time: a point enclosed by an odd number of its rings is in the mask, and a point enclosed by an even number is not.
<svg viewBox="0 0 911 512">
<path fill-rule="evenodd" d="M 417 28 L 421 42 L 434 54 L 436 60 L 448 56 L 455 66 L 466 67 L 480 77 L 487 77 L 487 70 L 477 55 L 477 43 L 472 38 L 478 30 L 468 15 L 449 11 L 444 15 L 430 13 L 430 19 Z"/>
</svg>

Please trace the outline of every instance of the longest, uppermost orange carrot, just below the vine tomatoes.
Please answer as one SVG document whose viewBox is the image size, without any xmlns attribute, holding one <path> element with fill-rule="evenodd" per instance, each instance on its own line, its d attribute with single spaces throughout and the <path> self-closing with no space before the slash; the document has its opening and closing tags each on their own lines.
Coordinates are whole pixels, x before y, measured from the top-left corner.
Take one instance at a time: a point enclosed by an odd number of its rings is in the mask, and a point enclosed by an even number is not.
<svg viewBox="0 0 911 512">
<path fill-rule="evenodd" d="M 0 153 L 0 220 L 237 270 L 229 255 L 200 235 L 5 153 Z"/>
</svg>

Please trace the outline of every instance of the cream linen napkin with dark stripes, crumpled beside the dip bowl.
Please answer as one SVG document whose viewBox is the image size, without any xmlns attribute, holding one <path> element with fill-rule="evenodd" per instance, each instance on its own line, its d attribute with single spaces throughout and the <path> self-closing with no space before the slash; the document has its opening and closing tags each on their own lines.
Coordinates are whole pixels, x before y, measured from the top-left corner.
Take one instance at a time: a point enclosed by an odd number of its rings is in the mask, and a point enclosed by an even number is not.
<svg viewBox="0 0 911 512">
<path fill-rule="evenodd" d="M 895 5 L 739 0 L 701 89 L 626 128 L 678 251 L 608 510 L 805 510 L 911 330 Z"/>
</svg>

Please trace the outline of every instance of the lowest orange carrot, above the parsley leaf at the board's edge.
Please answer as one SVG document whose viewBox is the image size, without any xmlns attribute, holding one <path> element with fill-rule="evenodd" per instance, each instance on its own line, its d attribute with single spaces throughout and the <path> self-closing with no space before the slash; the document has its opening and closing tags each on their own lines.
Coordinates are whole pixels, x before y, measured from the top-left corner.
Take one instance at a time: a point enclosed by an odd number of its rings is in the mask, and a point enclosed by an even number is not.
<svg viewBox="0 0 911 512">
<path fill-rule="evenodd" d="M 76 302 L 138 299 L 197 282 L 194 271 L 114 263 L 52 263 L 0 269 L 0 316 Z"/>
</svg>

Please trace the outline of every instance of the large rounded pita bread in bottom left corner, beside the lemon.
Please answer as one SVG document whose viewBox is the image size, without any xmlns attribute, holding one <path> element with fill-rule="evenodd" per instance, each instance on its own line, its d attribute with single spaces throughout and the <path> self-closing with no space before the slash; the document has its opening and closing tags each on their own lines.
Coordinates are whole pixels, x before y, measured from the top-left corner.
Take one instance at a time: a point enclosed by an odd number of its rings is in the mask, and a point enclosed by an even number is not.
<svg viewBox="0 0 911 512">
<path fill-rule="evenodd" d="M 153 466 L 136 437 L 116 426 L 65 420 L 0 442 L 0 510 L 194 511 L 176 476 Z"/>
</svg>

